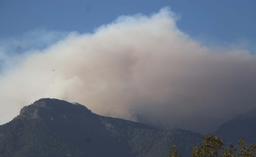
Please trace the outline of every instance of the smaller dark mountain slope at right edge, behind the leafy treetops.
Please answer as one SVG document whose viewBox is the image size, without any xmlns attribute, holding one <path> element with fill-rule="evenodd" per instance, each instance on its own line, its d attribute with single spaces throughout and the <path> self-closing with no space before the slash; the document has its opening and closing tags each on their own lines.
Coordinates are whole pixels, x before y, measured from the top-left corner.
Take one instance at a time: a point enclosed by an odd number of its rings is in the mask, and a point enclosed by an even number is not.
<svg viewBox="0 0 256 157">
<path fill-rule="evenodd" d="M 223 123 L 215 132 L 223 140 L 237 143 L 242 137 L 248 143 L 256 143 L 256 108 Z"/>
</svg>

